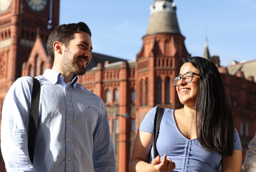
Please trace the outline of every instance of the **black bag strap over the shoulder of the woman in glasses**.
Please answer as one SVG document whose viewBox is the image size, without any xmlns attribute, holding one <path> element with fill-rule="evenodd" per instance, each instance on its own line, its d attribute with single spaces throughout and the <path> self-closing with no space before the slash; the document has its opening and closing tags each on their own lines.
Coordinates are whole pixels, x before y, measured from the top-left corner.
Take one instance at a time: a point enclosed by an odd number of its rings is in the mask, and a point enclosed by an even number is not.
<svg viewBox="0 0 256 172">
<path fill-rule="evenodd" d="M 163 117 L 165 109 L 162 107 L 157 107 L 157 110 L 155 112 L 155 117 L 154 117 L 154 140 L 153 140 L 153 148 L 154 148 L 154 158 L 156 158 L 159 153 L 158 150 L 156 148 L 156 142 L 158 139 L 158 133 L 159 133 L 159 127 L 160 127 L 160 123 Z"/>
</svg>

